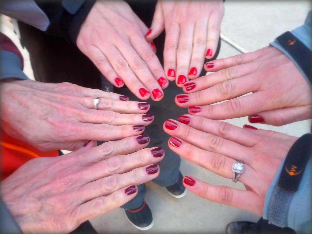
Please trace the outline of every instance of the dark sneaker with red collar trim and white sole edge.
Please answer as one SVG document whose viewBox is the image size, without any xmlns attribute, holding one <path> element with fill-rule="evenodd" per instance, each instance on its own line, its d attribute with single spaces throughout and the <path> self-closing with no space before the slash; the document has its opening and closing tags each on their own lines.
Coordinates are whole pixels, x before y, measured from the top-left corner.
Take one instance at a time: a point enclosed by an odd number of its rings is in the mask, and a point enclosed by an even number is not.
<svg viewBox="0 0 312 234">
<path fill-rule="evenodd" d="M 143 205 L 137 209 L 124 209 L 129 222 L 139 230 L 149 230 L 153 224 L 152 212 L 149 206 L 143 202 Z"/>
</svg>

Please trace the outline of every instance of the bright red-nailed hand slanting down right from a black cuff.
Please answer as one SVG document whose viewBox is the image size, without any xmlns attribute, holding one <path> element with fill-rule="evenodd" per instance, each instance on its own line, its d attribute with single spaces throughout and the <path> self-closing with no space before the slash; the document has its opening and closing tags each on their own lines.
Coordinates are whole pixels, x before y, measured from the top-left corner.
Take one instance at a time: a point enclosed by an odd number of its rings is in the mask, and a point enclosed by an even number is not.
<svg viewBox="0 0 312 234">
<path fill-rule="evenodd" d="M 169 83 L 154 43 L 144 38 L 148 30 L 126 2 L 96 1 L 76 42 L 113 85 L 126 84 L 138 98 L 159 101 Z"/>
</svg>

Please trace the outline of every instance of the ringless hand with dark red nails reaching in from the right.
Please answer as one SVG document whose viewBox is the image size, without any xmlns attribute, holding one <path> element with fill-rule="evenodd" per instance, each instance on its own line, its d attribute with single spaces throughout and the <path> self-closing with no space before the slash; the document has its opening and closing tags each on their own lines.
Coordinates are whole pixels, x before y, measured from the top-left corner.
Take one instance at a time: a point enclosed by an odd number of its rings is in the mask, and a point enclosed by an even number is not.
<svg viewBox="0 0 312 234">
<path fill-rule="evenodd" d="M 191 106 L 190 114 L 209 119 L 251 115 L 251 123 L 275 126 L 311 118 L 312 95 L 308 82 L 275 47 L 217 59 L 205 69 L 214 73 L 184 84 L 183 91 L 188 94 L 176 98 L 177 105 Z M 210 105 L 224 100 L 229 101 Z"/>
</svg>

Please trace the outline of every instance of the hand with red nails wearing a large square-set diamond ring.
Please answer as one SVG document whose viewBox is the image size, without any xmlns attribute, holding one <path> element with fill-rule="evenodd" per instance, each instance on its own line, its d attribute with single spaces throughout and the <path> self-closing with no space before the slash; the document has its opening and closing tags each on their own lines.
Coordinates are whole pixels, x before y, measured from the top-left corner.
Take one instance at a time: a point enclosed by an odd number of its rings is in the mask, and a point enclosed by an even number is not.
<svg viewBox="0 0 312 234">
<path fill-rule="evenodd" d="M 262 216 L 267 190 L 298 138 L 262 129 L 242 129 L 201 116 L 182 115 L 179 121 L 167 120 L 163 125 L 165 132 L 173 136 L 169 148 L 228 179 L 233 177 L 233 163 L 242 161 L 244 172 L 238 181 L 246 190 L 208 184 L 191 176 L 184 177 L 184 186 L 199 197 Z"/>
</svg>

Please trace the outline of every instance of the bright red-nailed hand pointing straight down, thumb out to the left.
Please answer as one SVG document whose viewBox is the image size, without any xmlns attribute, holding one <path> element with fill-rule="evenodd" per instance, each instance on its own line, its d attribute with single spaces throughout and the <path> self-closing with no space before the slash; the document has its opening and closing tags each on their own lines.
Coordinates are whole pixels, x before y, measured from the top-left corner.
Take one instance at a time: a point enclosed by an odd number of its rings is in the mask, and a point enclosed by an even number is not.
<svg viewBox="0 0 312 234">
<path fill-rule="evenodd" d="M 166 29 L 164 70 L 179 87 L 202 71 L 205 57 L 214 56 L 224 14 L 222 0 L 166 1 L 156 5 L 149 35 L 152 40 Z"/>
</svg>

